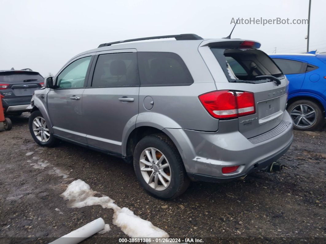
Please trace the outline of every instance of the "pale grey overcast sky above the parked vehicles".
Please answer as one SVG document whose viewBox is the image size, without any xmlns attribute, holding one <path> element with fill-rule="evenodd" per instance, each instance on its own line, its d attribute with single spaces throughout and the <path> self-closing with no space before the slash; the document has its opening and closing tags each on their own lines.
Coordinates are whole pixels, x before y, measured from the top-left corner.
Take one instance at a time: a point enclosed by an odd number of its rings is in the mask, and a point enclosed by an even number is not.
<svg viewBox="0 0 326 244">
<path fill-rule="evenodd" d="M 48 76 L 99 44 L 145 36 L 228 36 L 232 18 L 307 19 L 309 0 L 0 0 L 0 70 L 31 68 Z M 326 52 L 325 0 L 312 0 L 310 50 Z M 243 24 L 232 38 L 272 53 L 306 50 L 306 24 Z"/>
</svg>

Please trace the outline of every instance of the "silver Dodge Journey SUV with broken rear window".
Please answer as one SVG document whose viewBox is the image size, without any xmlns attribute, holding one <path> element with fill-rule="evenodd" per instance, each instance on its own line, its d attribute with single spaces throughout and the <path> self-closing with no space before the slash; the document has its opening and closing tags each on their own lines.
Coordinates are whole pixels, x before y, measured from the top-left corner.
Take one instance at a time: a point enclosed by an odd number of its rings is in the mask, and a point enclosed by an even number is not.
<svg viewBox="0 0 326 244">
<path fill-rule="evenodd" d="M 190 180 L 266 169 L 293 134 L 289 82 L 259 47 L 194 34 L 101 44 L 35 91 L 30 132 L 41 146 L 62 139 L 133 162 L 142 187 L 163 199 Z"/>
</svg>

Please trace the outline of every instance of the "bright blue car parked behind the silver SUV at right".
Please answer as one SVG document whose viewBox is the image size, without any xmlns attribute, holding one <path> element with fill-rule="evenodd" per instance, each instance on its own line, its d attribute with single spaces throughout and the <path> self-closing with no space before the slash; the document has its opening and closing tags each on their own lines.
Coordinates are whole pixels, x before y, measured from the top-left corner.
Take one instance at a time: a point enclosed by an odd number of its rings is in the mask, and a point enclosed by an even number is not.
<svg viewBox="0 0 326 244">
<path fill-rule="evenodd" d="M 326 55 L 270 54 L 289 79 L 287 110 L 297 130 L 319 130 L 326 110 Z"/>
</svg>

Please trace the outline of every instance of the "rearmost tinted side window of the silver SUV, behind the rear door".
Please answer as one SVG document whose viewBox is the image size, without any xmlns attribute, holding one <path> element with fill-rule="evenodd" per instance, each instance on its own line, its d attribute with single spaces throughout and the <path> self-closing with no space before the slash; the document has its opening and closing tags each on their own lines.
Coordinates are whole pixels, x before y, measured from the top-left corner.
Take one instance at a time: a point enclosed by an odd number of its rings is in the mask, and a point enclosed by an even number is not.
<svg viewBox="0 0 326 244">
<path fill-rule="evenodd" d="M 183 86 L 194 80 L 179 55 L 172 52 L 138 52 L 141 86 Z"/>
</svg>

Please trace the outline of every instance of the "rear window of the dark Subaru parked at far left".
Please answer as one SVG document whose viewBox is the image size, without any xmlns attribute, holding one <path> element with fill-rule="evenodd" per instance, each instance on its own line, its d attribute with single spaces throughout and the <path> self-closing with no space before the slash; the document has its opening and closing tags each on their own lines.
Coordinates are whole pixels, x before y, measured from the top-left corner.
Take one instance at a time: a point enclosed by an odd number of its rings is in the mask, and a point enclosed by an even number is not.
<svg viewBox="0 0 326 244">
<path fill-rule="evenodd" d="M 5 71 L 0 72 L 0 83 L 16 82 L 42 82 L 44 78 L 37 72 L 32 71 Z"/>
</svg>

